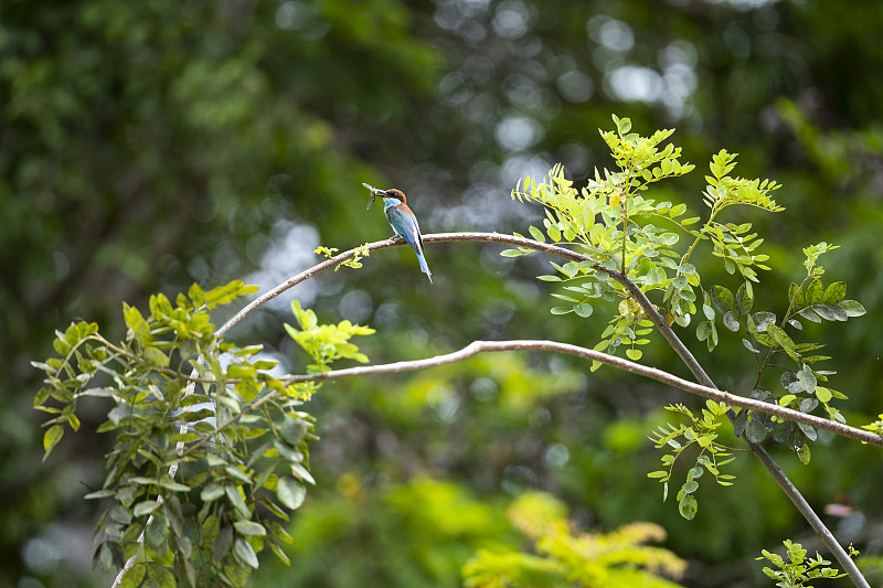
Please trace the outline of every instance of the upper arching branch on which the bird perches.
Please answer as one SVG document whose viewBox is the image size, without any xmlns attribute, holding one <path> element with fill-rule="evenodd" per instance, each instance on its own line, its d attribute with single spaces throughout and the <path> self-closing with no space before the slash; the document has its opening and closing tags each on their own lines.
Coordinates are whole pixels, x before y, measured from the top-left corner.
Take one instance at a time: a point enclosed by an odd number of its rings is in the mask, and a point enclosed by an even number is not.
<svg viewBox="0 0 883 588">
<path fill-rule="evenodd" d="M 543 252 L 549 255 L 554 255 L 556 257 L 560 257 L 562 259 L 567 259 L 571 261 L 577 261 L 577 263 L 588 261 L 593 264 L 595 270 L 603 271 L 609 275 L 613 279 L 619 282 L 629 292 L 629 295 L 631 295 L 631 297 L 635 299 L 636 302 L 638 302 L 638 304 L 640 304 L 640 307 L 647 314 L 648 319 L 656 325 L 656 328 L 659 330 L 659 332 L 662 334 L 666 341 L 671 345 L 674 352 L 678 353 L 678 356 L 681 357 L 681 361 L 687 365 L 687 367 L 690 370 L 690 372 L 693 374 L 696 381 L 708 388 L 716 389 L 717 386 L 714 385 L 714 382 L 711 379 L 711 377 L 705 373 L 705 371 L 702 368 L 702 366 L 693 356 L 693 354 L 690 353 L 690 350 L 687 349 L 687 346 L 683 344 L 680 338 L 678 338 L 678 335 L 668 324 L 666 319 L 659 313 L 659 311 L 656 309 L 652 302 L 650 302 L 650 300 L 641 291 L 641 289 L 635 282 L 632 282 L 627 275 L 617 270 L 604 268 L 598 264 L 596 259 L 593 259 L 592 257 L 583 254 L 578 254 L 576 252 L 572 252 L 564 247 L 558 247 L 556 245 L 549 245 L 545 243 L 540 243 L 524 237 L 502 235 L 499 233 L 430 234 L 430 235 L 424 235 L 423 240 L 424 243 L 470 242 L 470 240 L 485 242 L 485 243 L 502 243 L 502 244 L 514 245 L 518 247 L 525 247 L 538 252 Z M 386 240 L 370 243 L 366 245 L 366 247 L 369 252 L 372 252 L 377 249 L 385 249 L 387 247 L 401 247 L 402 245 L 404 245 L 404 242 L 402 242 L 401 239 L 386 239 Z M 255 299 L 253 302 L 251 302 L 248 306 L 246 306 L 240 312 L 237 312 L 233 318 L 231 318 L 226 323 L 224 323 L 224 325 L 222 325 L 217 330 L 217 336 L 221 336 L 224 333 L 226 333 L 231 328 L 233 328 L 234 325 L 240 323 L 245 317 L 247 317 L 248 313 L 259 308 L 260 306 L 265 304 L 269 300 L 273 300 L 274 298 L 283 293 L 285 290 L 300 284 L 304 280 L 307 280 L 316 276 L 321 271 L 325 271 L 326 269 L 342 264 L 347 259 L 352 258 L 355 255 L 355 253 L 357 253 L 355 249 L 350 249 L 321 264 L 317 264 L 316 266 L 298 274 L 297 276 L 288 279 L 286 282 L 277 286 L 273 290 Z M 849 574 L 849 577 L 853 581 L 853 584 L 855 584 L 855 586 L 859 587 L 866 587 L 868 581 L 861 575 L 859 568 L 849 557 L 843 547 L 837 542 L 831 532 L 825 526 L 825 523 L 821 522 L 816 512 L 809 506 L 809 504 L 806 502 L 806 500 L 797 490 L 797 488 L 790 482 L 790 480 L 781 470 L 781 468 L 778 467 L 775 460 L 773 460 L 769 453 L 767 453 L 767 451 L 760 445 L 748 441 L 747 438 L 744 437 L 744 435 L 743 438 L 745 439 L 745 442 L 748 445 L 748 448 L 751 449 L 752 453 L 754 453 L 754 456 L 764 464 L 764 467 L 770 473 L 776 483 L 779 484 L 779 487 L 783 489 L 785 494 L 791 500 L 791 502 L 795 504 L 800 514 L 804 515 L 804 517 L 807 520 L 807 522 L 810 524 L 813 531 L 816 531 L 816 533 L 819 535 L 825 545 L 831 550 L 831 553 L 840 563 L 840 565 L 843 566 L 843 569 L 847 571 L 847 574 Z"/>
</svg>

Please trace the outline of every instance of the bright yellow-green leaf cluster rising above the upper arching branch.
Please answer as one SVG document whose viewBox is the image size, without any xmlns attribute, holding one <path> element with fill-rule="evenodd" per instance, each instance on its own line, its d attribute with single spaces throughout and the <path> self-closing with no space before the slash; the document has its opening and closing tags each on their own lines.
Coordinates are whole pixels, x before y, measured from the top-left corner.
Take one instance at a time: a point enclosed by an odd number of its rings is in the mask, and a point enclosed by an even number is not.
<svg viewBox="0 0 883 588">
<path fill-rule="evenodd" d="M 703 192 L 703 202 L 710 212 L 706 221 L 695 228 L 699 216 L 685 216 L 685 203 L 657 201 L 646 195 L 652 184 L 689 173 L 691 163 L 682 163 L 681 149 L 668 143 L 673 129 L 659 130 L 650 137 L 631 131 L 631 121 L 614 116 L 615 130 L 600 131 L 619 170 L 611 172 L 595 170 L 595 177 L 577 191 L 564 177 L 561 164 L 549 173 L 549 179 L 538 182 L 528 177 L 512 192 L 519 202 L 538 202 L 545 209 L 543 228 L 531 226 L 531 236 L 545 243 L 574 245 L 593 258 L 593 261 L 552 264 L 555 275 L 540 279 L 564 282 L 563 292 L 552 296 L 567 306 L 552 308 L 553 314 L 576 313 L 587 318 L 594 313 L 593 302 L 613 302 L 616 312 L 608 320 L 596 351 L 616 353 L 620 348 L 631 360 L 642 355 L 638 346 L 650 340 L 651 332 L 640 307 L 634 302 L 625 288 L 611 279 L 619 271 L 638 285 L 648 295 L 659 292 L 659 309 L 669 323 L 688 327 L 693 314 L 700 310 L 705 321 L 698 328 L 701 340 L 709 349 L 717 344 L 717 332 L 711 321 L 711 306 L 702 288 L 696 267 L 691 263 L 695 247 L 708 242 L 712 254 L 722 258 L 724 268 L 736 270 L 744 279 L 756 281 L 756 269 L 769 269 L 764 265 L 766 255 L 756 253 L 763 243 L 752 233 L 751 223 L 722 223 L 717 215 L 733 205 L 748 205 L 769 212 L 783 207 L 769 196 L 779 188 L 770 180 L 746 180 L 731 177 L 736 154 L 721 150 L 710 164 L 711 174 Z M 518 235 L 518 234 L 517 234 Z M 680 247 L 682 236 L 692 236 L 689 247 Z M 528 248 L 507 249 L 504 256 L 530 253 Z M 699 295 L 704 304 L 698 302 Z M 599 364 L 594 364 L 597 368 Z"/>
</svg>

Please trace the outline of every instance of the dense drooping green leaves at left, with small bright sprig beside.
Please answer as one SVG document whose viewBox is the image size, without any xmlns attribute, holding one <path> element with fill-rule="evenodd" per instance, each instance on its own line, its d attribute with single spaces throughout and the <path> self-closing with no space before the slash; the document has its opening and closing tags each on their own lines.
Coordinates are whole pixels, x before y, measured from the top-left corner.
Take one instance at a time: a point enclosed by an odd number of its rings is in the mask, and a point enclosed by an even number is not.
<svg viewBox="0 0 883 588">
<path fill-rule="evenodd" d="M 292 538 L 281 523 L 315 483 L 307 446 L 317 439 L 313 419 L 299 406 L 318 385 L 286 384 L 269 373 L 276 362 L 258 357 L 259 345 L 215 336 L 209 311 L 255 289 L 194 285 L 174 304 L 152 296 L 149 314 L 124 304 L 124 341 L 111 343 L 95 323 L 74 323 L 57 333 L 58 356 L 34 362 L 46 373 L 34 407 L 53 415 L 46 456 L 65 424 L 78 428 L 81 398 L 110 400 L 97 429 L 114 436 L 107 475 L 86 498 L 111 501 L 95 532 L 96 565 L 120 568 L 143 545 L 126 586 L 243 586 L 266 547 L 288 563 L 283 546 Z M 320 325 L 311 311 L 292 308 L 301 329 L 286 327 L 312 367 L 366 360 L 348 340 L 370 329 Z"/>
</svg>

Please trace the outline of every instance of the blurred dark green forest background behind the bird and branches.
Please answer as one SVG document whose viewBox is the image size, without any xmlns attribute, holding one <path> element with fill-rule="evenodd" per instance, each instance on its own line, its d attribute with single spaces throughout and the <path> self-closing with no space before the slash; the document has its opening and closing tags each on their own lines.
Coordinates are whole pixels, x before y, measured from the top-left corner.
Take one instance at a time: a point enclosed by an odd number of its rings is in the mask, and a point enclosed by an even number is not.
<svg viewBox="0 0 883 588">
<path fill-rule="evenodd" d="M 386 238 L 361 182 L 408 194 L 425 233 L 525 232 L 542 212 L 510 190 L 563 162 L 577 185 L 610 167 L 597 129 L 677 127 L 698 165 L 666 200 L 701 214 L 702 175 L 721 148 L 736 173 L 785 185 L 777 215 L 747 215 L 774 272 L 757 304 L 781 312 L 800 248 L 826 239 L 830 280 L 869 313 L 809 324 L 829 343 L 852 424 L 881 410 L 883 339 L 883 26 L 881 2 L 808 0 L 6 0 L 0 6 L 0 585 L 107 586 L 91 570 L 108 439 L 83 428 L 41 463 L 31 409 L 53 329 L 74 319 L 125 333 L 124 300 L 145 304 L 193 281 L 269 288 L 319 260 Z M 592 346 L 603 313 L 552 317 L 539 256 L 430 245 L 435 284 L 403 248 L 328 272 L 237 327 L 290 370 L 281 323 L 296 297 L 320 320 L 377 329 L 375 363 L 476 339 Z M 710 256 L 700 259 L 709 261 Z M 737 286 L 726 275 L 705 280 Z M 727 281 L 731 280 L 731 281 Z M 219 317 L 220 322 L 224 317 Z M 710 355 L 721 387 L 745 393 L 754 362 L 738 338 Z M 736 352 L 727 353 L 725 348 Z M 661 343 L 646 363 L 683 375 Z M 307 409 L 318 481 L 292 520 L 292 565 L 272 557 L 254 586 L 459 586 L 479 547 L 518 545 L 506 518 L 525 490 L 553 492 L 577 524 L 653 521 L 690 567 L 689 586 L 762 586 L 753 558 L 783 538 L 820 548 L 758 463 L 731 489 L 704 484 L 683 521 L 646 478 L 661 407 L 698 400 L 550 355 L 476 357 L 419 374 L 329 385 Z M 883 460 L 820 435 L 812 462 L 777 458 L 838 536 L 883 554 Z M 872 578 L 873 579 L 873 578 Z M 877 586 L 883 581 L 876 578 Z M 768 585 L 768 584 L 766 584 Z M 832 584 L 833 585 L 833 584 Z"/>
</svg>

